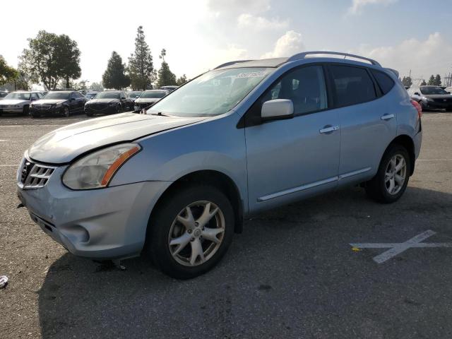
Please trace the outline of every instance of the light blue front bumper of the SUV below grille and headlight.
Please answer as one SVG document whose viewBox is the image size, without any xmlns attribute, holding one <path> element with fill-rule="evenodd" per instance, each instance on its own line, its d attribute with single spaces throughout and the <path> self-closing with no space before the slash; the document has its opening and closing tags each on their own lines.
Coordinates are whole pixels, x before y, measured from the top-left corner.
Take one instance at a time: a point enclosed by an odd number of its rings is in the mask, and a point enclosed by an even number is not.
<svg viewBox="0 0 452 339">
<path fill-rule="evenodd" d="M 137 256 L 145 243 L 150 211 L 169 182 L 138 182 L 73 191 L 61 184 L 57 167 L 41 189 L 22 189 L 18 198 L 30 217 L 72 254 L 114 259 Z"/>
</svg>

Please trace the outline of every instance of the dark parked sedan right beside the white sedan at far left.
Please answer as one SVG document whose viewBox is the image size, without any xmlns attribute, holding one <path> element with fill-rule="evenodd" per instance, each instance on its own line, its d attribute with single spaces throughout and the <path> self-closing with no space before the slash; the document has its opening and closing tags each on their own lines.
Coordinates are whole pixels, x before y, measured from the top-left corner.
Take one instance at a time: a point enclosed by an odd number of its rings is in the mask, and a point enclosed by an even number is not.
<svg viewBox="0 0 452 339">
<path fill-rule="evenodd" d="M 83 107 L 88 99 L 73 90 L 52 90 L 41 100 L 30 105 L 30 114 L 33 118 L 43 115 L 59 114 L 69 117 L 76 112 L 83 112 Z"/>
</svg>

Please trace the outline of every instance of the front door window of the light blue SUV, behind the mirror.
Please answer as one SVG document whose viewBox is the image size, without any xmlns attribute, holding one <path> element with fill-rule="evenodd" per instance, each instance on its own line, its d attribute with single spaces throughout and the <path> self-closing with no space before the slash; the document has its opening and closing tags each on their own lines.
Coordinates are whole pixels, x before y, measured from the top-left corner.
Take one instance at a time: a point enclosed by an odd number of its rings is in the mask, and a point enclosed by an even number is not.
<svg viewBox="0 0 452 339">
<path fill-rule="evenodd" d="M 294 114 L 326 109 L 328 102 L 322 66 L 307 66 L 286 73 L 270 87 L 263 102 L 273 99 L 292 100 Z"/>
</svg>

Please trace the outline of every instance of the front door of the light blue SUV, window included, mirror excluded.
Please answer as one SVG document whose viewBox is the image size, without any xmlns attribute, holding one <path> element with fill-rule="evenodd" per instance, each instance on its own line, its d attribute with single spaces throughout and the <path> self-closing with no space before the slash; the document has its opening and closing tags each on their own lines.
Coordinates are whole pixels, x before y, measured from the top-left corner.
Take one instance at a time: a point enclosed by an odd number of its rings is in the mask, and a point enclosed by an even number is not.
<svg viewBox="0 0 452 339">
<path fill-rule="evenodd" d="M 340 119 L 334 109 L 328 109 L 325 84 L 322 66 L 292 69 L 246 113 L 250 212 L 337 185 Z M 295 117 L 250 122 L 258 121 L 262 103 L 273 99 L 292 100 Z"/>
</svg>

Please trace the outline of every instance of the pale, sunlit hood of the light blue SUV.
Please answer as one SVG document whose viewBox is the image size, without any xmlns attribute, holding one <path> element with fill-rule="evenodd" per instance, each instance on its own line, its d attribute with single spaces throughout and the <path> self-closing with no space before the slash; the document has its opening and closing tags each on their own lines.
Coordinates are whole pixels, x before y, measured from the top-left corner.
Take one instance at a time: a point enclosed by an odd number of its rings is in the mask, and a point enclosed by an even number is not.
<svg viewBox="0 0 452 339">
<path fill-rule="evenodd" d="M 28 149 L 28 156 L 38 162 L 64 164 L 93 148 L 121 141 L 133 141 L 150 134 L 194 124 L 203 119 L 206 118 L 165 117 L 136 113 L 89 119 L 42 136 Z"/>
</svg>

